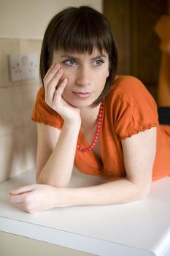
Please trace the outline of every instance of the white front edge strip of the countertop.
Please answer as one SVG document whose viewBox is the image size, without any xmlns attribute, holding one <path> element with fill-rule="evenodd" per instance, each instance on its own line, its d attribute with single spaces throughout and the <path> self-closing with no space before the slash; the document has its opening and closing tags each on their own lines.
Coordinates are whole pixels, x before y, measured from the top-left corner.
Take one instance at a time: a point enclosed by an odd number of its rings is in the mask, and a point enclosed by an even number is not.
<svg viewBox="0 0 170 256">
<path fill-rule="evenodd" d="M 36 225 L 30 222 L 9 219 L 7 217 L 0 217 L 0 230 L 17 236 L 32 238 L 38 241 L 64 246 L 94 255 L 109 256 L 112 255 L 113 252 L 115 256 L 126 256 L 127 253 L 131 256 L 155 255 L 153 252 L 144 251 L 143 249 L 114 244 L 108 241 L 92 238 L 90 236 L 82 236 L 76 233 L 69 233 L 67 231 Z"/>
</svg>

